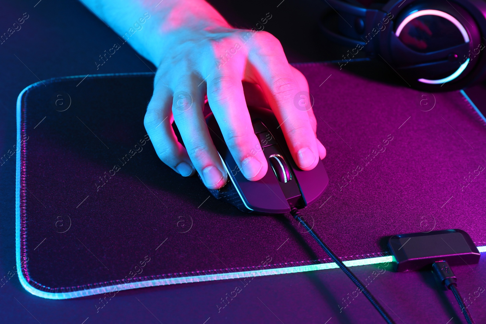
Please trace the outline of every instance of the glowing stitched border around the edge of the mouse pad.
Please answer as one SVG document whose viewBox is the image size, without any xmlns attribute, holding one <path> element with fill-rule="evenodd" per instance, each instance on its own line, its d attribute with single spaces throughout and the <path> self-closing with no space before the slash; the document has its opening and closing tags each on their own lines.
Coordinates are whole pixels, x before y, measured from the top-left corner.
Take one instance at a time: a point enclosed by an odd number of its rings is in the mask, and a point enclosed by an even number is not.
<svg viewBox="0 0 486 324">
<path fill-rule="evenodd" d="M 92 75 L 89 78 L 103 78 L 108 76 L 127 76 L 127 75 L 151 75 L 153 73 L 122 73 L 122 74 L 103 74 L 103 75 Z M 76 80 L 82 81 L 86 77 L 85 76 L 74 76 L 74 77 L 65 77 L 65 78 L 55 78 L 51 80 L 47 80 L 44 82 L 38 82 L 33 85 L 28 86 L 25 88 L 18 96 L 17 99 L 17 142 L 20 143 L 22 140 L 22 99 L 24 95 L 29 91 L 29 89 L 41 85 L 43 83 L 50 83 L 50 82 L 59 82 L 62 80 Z M 462 92 L 462 94 L 467 98 L 467 96 Z M 468 99 L 468 98 L 467 98 Z M 94 133 L 93 133 L 94 134 Z M 25 143 L 25 142 L 24 142 Z M 25 274 L 27 272 L 27 260 L 26 256 L 26 248 L 23 246 L 25 244 L 25 222 L 26 222 L 26 215 L 22 214 L 22 205 L 25 206 L 25 196 L 22 197 L 22 193 L 25 193 L 25 144 L 22 145 L 22 149 L 20 153 L 17 154 L 17 172 L 16 172 L 16 254 L 17 254 L 17 269 L 21 269 L 18 271 L 18 276 L 20 283 L 22 286 L 29 292 L 34 295 L 50 298 L 50 299 L 66 299 L 66 298 L 75 298 L 93 294 L 99 294 L 104 292 L 113 292 L 118 290 L 127 290 L 127 289 L 134 289 L 134 288 L 141 288 L 141 287 L 150 287 L 150 286 L 160 286 L 160 285 L 170 285 L 170 284 L 178 284 L 178 283 L 188 283 L 188 282 L 200 282 L 200 281 L 211 281 L 211 280 L 220 280 L 220 279 L 232 279 L 232 278 L 244 278 L 244 277 L 254 277 L 254 276 L 263 276 L 263 275 L 272 275 L 272 274 L 281 274 L 281 273 L 297 273 L 297 272 L 305 272 L 305 271 L 314 271 L 314 270 L 324 270 L 324 269 L 332 269 L 337 268 L 337 265 L 333 262 L 330 262 L 329 259 L 318 259 L 314 261 L 301 261 L 301 262 L 289 262 L 289 263 L 280 263 L 280 264 L 273 264 L 265 266 L 264 269 L 260 267 L 246 267 L 246 268 L 230 268 L 230 269 L 219 269 L 219 270 L 208 270 L 208 271 L 197 271 L 192 273 L 174 273 L 173 275 L 168 275 L 168 277 L 159 278 L 159 279 L 151 279 L 148 280 L 147 277 L 137 279 L 138 281 L 134 280 L 132 282 L 124 282 L 118 280 L 119 284 L 112 283 L 100 283 L 100 284 L 93 284 L 91 285 L 92 288 L 80 287 L 80 290 L 73 290 L 73 291 L 60 291 L 60 292 L 49 292 L 42 290 L 41 284 L 36 282 L 31 282 L 26 279 Z M 221 202 L 223 204 L 223 202 Z M 25 213 L 25 208 L 23 209 L 23 213 Z M 40 242 L 42 243 L 42 242 Z M 40 244 L 39 244 L 40 245 Z M 485 252 L 486 247 L 479 247 L 480 252 Z M 346 259 L 346 258 L 343 258 Z M 389 256 L 386 252 L 384 253 L 375 253 L 373 255 L 364 255 L 354 257 L 348 257 L 345 264 L 347 266 L 358 266 L 358 265 L 367 265 L 367 264 L 376 264 L 376 263 L 383 263 L 383 262 L 391 262 L 392 257 Z M 28 274 L 27 274 L 28 275 Z M 164 275 L 165 276 L 165 275 Z M 122 279 L 123 280 L 123 279 Z M 36 287 L 35 287 L 36 286 Z M 89 285 L 88 285 L 89 286 Z M 45 289 L 49 287 L 42 286 Z M 39 289 L 40 288 L 40 289 Z"/>
</svg>

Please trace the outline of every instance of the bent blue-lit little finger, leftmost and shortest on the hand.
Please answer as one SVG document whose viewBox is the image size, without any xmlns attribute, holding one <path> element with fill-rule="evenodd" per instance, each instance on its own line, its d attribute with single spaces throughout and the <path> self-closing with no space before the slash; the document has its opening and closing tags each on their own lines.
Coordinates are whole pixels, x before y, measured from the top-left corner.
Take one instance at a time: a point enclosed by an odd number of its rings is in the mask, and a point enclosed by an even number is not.
<svg viewBox="0 0 486 324">
<path fill-rule="evenodd" d="M 182 176 L 194 174 L 186 149 L 177 141 L 172 128 L 172 91 L 161 82 L 154 86 L 143 124 L 158 157 Z"/>
</svg>

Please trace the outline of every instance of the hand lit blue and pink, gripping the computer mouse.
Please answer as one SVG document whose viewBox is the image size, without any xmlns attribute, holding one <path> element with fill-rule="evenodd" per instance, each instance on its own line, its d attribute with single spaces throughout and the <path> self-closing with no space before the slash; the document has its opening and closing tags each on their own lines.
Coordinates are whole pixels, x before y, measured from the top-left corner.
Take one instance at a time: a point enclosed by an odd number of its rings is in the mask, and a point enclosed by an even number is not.
<svg viewBox="0 0 486 324">
<path fill-rule="evenodd" d="M 227 174 L 203 116 L 206 96 L 226 144 L 248 180 L 261 179 L 268 164 L 247 104 L 273 110 L 300 169 L 312 170 L 326 156 L 315 136 L 310 102 L 300 98 L 300 92 L 309 93 L 307 81 L 289 65 L 277 38 L 264 31 L 234 29 L 218 19 L 210 28 L 174 27 L 171 35 L 170 50 L 159 59 L 154 94 L 144 119 L 165 164 L 183 176 L 199 172 L 208 188 L 225 185 Z M 296 106 L 299 101 L 301 105 Z M 173 121 L 185 148 L 177 141 Z"/>
</svg>

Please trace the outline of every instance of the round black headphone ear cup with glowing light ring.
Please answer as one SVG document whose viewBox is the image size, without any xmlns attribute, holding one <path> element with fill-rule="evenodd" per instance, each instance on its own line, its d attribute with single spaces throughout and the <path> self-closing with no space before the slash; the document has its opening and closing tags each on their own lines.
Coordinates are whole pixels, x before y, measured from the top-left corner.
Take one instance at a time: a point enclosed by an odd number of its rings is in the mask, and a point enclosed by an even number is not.
<svg viewBox="0 0 486 324">
<path fill-rule="evenodd" d="M 398 7 L 391 10 L 396 17 L 387 33 L 381 35 L 382 59 L 414 88 L 450 91 L 464 88 L 481 77 L 478 67 L 485 65 L 481 28 L 469 8 L 449 2 L 416 1 L 400 10 Z M 478 11 L 476 7 L 473 9 Z M 420 33 L 438 36 L 435 40 L 427 39 L 427 35 L 421 38 Z M 458 38 L 459 42 L 454 43 Z"/>
</svg>

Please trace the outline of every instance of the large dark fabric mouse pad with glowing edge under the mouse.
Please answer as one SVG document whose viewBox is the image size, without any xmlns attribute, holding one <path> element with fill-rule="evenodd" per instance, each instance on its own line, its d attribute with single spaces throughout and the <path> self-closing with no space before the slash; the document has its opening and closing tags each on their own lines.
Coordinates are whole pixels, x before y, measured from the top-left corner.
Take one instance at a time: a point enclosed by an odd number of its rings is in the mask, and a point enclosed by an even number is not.
<svg viewBox="0 0 486 324">
<path fill-rule="evenodd" d="M 302 215 L 338 256 L 390 261 L 387 237 L 450 228 L 486 245 L 486 128 L 460 92 L 296 67 L 330 178 Z M 290 215 L 244 214 L 158 159 L 143 126 L 153 79 L 57 78 L 19 95 L 23 287 L 61 299 L 335 267 Z"/>
</svg>

